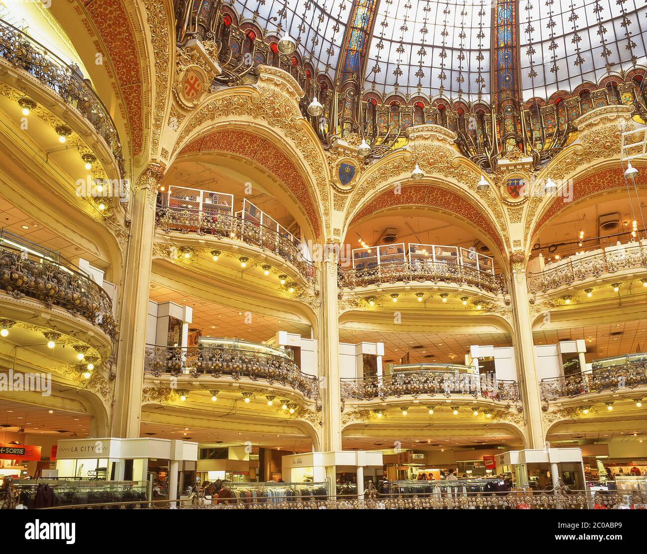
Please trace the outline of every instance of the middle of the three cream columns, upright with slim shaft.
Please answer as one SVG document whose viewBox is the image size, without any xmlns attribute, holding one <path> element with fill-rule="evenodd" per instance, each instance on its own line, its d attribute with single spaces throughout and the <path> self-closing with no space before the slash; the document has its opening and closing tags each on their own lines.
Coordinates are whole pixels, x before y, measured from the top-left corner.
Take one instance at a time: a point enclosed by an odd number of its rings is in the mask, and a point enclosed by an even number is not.
<svg viewBox="0 0 647 554">
<path fill-rule="evenodd" d="M 327 244 L 321 273 L 319 360 L 322 380 L 322 451 L 342 449 L 342 399 L 339 382 L 339 318 L 337 311 L 337 252 L 339 245 Z"/>
</svg>

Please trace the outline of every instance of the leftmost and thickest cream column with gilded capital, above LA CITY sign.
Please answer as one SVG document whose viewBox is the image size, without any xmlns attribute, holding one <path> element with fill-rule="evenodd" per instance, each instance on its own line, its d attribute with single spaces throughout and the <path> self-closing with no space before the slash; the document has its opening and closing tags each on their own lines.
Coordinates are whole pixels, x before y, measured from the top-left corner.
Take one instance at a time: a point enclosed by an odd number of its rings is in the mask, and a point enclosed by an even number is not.
<svg viewBox="0 0 647 554">
<path fill-rule="evenodd" d="M 139 436 L 155 202 L 162 175 L 162 166 L 150 164 L 140 175 L 133 190 L 131 236 L 122 281 L 113 437 Z"/>
</svg>

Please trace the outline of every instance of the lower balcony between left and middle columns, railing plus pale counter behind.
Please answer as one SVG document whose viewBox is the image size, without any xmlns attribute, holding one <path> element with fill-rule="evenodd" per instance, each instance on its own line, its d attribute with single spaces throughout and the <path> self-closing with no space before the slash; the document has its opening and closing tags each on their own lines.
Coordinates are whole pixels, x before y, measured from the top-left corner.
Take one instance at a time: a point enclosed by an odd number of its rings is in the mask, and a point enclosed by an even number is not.
<svg viewBox="0 0 647 554">
<path fill-rule="evenodd" d="M 319 380 L 302 373 L 290 353 L 228 339 L 208 339 L 193 348 L 149 345 L 144 369 L 160 382 L 177 378 L 179 387 L 184 377 L 187 388 L 196 380 L 212 387 L 236 382 L 253 390 L 291 389 L 307 399 L 318 399 Z"/>
</svg>

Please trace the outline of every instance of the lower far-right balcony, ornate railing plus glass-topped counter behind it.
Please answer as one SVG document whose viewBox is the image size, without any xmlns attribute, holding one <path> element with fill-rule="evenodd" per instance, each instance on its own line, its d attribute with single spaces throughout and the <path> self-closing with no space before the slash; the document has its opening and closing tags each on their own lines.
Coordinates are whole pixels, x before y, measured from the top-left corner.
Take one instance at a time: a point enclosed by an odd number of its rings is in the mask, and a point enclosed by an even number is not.
<svg viewBox="0 0 647 554">
<path fill-rule="evenodd" d="M 542 379 L 540 388 L 547 401 L 585 395 L 602 399 L 634 390 L 641 396 L 647 393 L 647 353 L 596 360 L 591 370 Z"/>
</svg>

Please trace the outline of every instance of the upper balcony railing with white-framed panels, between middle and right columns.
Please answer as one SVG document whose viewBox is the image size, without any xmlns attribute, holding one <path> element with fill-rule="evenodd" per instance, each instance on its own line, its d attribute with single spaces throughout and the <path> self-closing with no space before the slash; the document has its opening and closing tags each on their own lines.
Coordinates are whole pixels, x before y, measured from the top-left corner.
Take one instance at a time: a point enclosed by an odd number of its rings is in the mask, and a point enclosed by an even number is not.
<svg viewBox="0 0 647 554">
<path fill-rule="evenodd" d="M 472 250 L 404 243 L 353 250 L 353 268 L 340 269 L 339 286 L 371 289 L 396 283 L 446 283 L 505 294 L 507 285 L 494 274 L 492 258 Z"/>
</svg>

